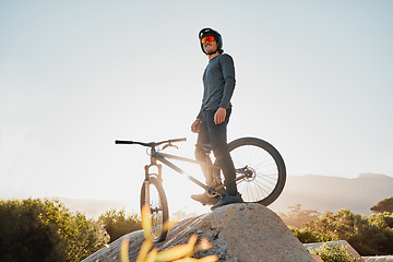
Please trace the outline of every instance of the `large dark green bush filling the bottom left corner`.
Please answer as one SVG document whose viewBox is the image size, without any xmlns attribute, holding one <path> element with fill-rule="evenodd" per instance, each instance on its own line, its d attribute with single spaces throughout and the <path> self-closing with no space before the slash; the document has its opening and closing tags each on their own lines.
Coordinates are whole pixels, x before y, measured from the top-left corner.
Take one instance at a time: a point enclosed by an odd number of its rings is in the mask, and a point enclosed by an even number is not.
<svg viewBox="0 0 393 262">
<path fill-rule="evenodd" d="M 97 222 L 57 201 L 0 201 L 0 261 L 81 261 L 106 242 Z"/>
</svg>

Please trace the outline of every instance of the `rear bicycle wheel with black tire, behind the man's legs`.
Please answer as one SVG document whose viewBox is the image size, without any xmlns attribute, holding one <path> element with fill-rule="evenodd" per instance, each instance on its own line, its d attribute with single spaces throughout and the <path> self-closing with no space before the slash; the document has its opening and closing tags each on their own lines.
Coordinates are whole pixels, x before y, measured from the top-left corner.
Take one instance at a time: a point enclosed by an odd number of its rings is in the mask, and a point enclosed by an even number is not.
<svg viewBox="0 0 393 262">
<path fill-rule="evenodd" d="M 245 202 L 272 204 L 283 192 L 286 167 L 278 151 L 261 139 L 241 138 L 228 144 L 235 168 L 249 167 L 252 178 L 238 182 Z"/>
</svg>

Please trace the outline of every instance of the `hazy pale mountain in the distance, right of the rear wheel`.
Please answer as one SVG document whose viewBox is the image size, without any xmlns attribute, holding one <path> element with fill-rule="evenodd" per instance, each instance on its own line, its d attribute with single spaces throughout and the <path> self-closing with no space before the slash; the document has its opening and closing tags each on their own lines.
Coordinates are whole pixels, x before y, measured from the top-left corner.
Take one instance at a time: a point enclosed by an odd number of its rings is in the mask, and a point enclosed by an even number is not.
<svg viewBox="0 0 393 262">
<path fill-rule="evenodd" d="M 283 193 L 269 207 L 287 213 L 288 206 L 301 204 L 302 210 L 337 211 L 350 209 L 354 213 L 372 214 L 370 207 L 393 196 L 393 177 L 361 174 L 348 179 L 324 176 L 288 176 Z"/>
</svg>

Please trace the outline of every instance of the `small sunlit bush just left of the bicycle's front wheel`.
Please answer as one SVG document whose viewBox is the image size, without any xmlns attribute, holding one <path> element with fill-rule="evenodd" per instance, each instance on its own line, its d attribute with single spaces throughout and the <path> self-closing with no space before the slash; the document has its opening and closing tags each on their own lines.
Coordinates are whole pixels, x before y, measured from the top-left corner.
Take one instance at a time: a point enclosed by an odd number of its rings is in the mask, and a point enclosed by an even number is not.
<svg viewBox="0 0 393 262">
<path fill-rule="evenodd" d="M 108 211 L 100 215 L 99 223 L 110 236 L 110 242 L 124 236 L 126 234 L 142 229 L 141 219 L 136 214 L 126 216 L 123 210 L 116 212 L 115 210 Z"/>
</svg>

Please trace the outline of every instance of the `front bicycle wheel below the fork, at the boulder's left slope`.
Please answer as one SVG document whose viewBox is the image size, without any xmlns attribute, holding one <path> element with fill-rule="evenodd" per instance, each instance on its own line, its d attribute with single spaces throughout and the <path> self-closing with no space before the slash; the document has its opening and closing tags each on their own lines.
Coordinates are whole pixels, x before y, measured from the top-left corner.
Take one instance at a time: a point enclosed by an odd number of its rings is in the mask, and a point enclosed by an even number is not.
<svg viewBox="0 0 393 262">
<path fill-rule="evenodd" d="M 167 225 L 169 221 L 168 202 L 165 195 L 163 183 L 156 177 L 150 176 L 148 186 L 148 206 L 151 209 L 150 219 L 152 219 L 152 228 L 150 228 L 150 231 L 154 241 L 160 242 L 165 240 L 168 233 L 167 228 L 164 229 L 164 225 Z M 145 191 L 145 184 L 143 182 L 141 189 L 141 210 L 146 200 Z"/>
</svg>

